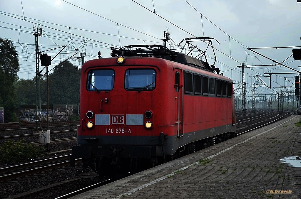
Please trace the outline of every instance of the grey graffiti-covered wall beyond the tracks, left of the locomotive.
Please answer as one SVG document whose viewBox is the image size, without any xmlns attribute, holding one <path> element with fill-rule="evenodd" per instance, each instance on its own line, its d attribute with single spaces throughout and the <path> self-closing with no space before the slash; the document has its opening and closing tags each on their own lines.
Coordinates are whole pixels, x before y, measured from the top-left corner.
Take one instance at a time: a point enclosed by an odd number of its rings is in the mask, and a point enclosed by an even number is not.
<svg viewBox="0 0 301 199">
<path fill-rule="evenodd" d="M 39 111 L 39 110 L 38 110 Z M 40 111 L 39 111 L 40 112 Z M 79 117 L 79 105 L 49 105 L 48 121 L 70 121 Z M 36 105 L 20 105 L 20 123 L 35 122 Z M 47 106 L 41 105 L 41 121 L 47 121 Z"/>
</svg>

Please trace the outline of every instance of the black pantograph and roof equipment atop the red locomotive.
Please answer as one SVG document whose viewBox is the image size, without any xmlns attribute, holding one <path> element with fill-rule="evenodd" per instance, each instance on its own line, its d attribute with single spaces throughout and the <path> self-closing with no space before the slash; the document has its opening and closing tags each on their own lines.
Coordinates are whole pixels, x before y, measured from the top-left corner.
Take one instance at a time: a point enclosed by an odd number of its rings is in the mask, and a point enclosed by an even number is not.
<svg viewBox="0 0 301 199">
<path fill-rule="evenodd" d="M 208 39 L 208 40 L 200 40 L 201 38 L 203 39 Z M 189 43 L 189 41 L 191 39 L 199 39 L 198 41 L 209 41 L 209 44 L 211 44 L 212 46 L 212 39 L 211 37 L 197 37 L 197 38 L 186 38 L 184 40 L 187 40 L 186 43 L 188 45 L 191 45 Z M 182 40 L 182 41 L 184 41 Z M 180 43 L 182 43 L 182 41 Z M 209 46 L 208 44 L 208 46 Z M 185 47 L 185 46 L 184 46 Z M 184 48 L 183 47 L 183 48 Z M 213 46 L 212 46 L 213 48 Z M 194 49 L 198 49 L 197 46 L 194 46 L 194 48 L 190 48 L 190 51 L 188 52 L 188 54 L 192 55 L 192 51 Z M 208 47 L 207 47 L 208 49 Z M 206 50 L 207 50 L 206 49 Z M 157 45 L 157 44 L 151 44 L 151 45 L 128 45 L 128 46 L 124 46 L 122 48 L 116 48 L 116 47 L 111 47 L 112 53 L 111 56 L 112 57 L 117 57 L 117 56 L 126 56 L 126 57 L 156 57 L 156 58 L 162 58 L 165 60 L 170 60 L 170 61 L 174 61 L 177 63 L 181 63 L 181 64 L 185 64 L 188 66 L 192 66 L 195 68 L 200 68 L 206 71 L 210 71 L 210 72 L 216 72 L 216 74 L 220 73 L 219 67 L 215 67 L 214 64 L 209 66 L 209 63 L 207 62 L 207 58 L 206 58 L 206 50 L 205 51 L 201 51 L 200 49 L 198 49 L 198 51 L 200 52 L 199 55 L 197 55 L 196 57 L 191 57 L 188 54 L 183 54 L 182 51 L 181 52 L 176 52 L 176 51 L 172 51 L 169 48 L 162 46 L 162 45 Z M 214 50 L 213 50 L 214 52 Z M 214 54 L 215 55 L 215 54 Z M 206 61 L 200 60 L 199 58 L 204 56 Z M 215 57 L 215 61 L 216 62 L 216 57 Z"/>
</svg>

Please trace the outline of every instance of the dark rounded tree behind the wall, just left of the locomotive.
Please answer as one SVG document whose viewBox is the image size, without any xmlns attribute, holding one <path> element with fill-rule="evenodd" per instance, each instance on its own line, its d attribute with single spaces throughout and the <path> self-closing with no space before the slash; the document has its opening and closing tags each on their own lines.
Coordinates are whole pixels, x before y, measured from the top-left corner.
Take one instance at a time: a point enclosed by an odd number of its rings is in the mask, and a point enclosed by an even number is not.
<svg viewBox="0 0 301 199">
<path fill-rule="evenodd" d="M 49 75 L 49 104 L 78 104 L 80 69 L 69 61 L 59 63 Z"/>
</svg>

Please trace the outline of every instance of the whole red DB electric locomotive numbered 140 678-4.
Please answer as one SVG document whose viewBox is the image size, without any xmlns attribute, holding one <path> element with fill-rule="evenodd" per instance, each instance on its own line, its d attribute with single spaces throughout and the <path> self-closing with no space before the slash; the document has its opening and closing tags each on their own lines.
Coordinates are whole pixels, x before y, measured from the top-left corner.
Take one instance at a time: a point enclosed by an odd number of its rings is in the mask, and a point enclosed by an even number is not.
<svg viewBox="0 0 301 199">
<path fill-rule="evenodd" d="M 84 167 L 138 172 L 236 136 L 233 82 L 218 68 L 160 45 L 112 51 L 82 66 L 72 156 Z"/>
</svg>

